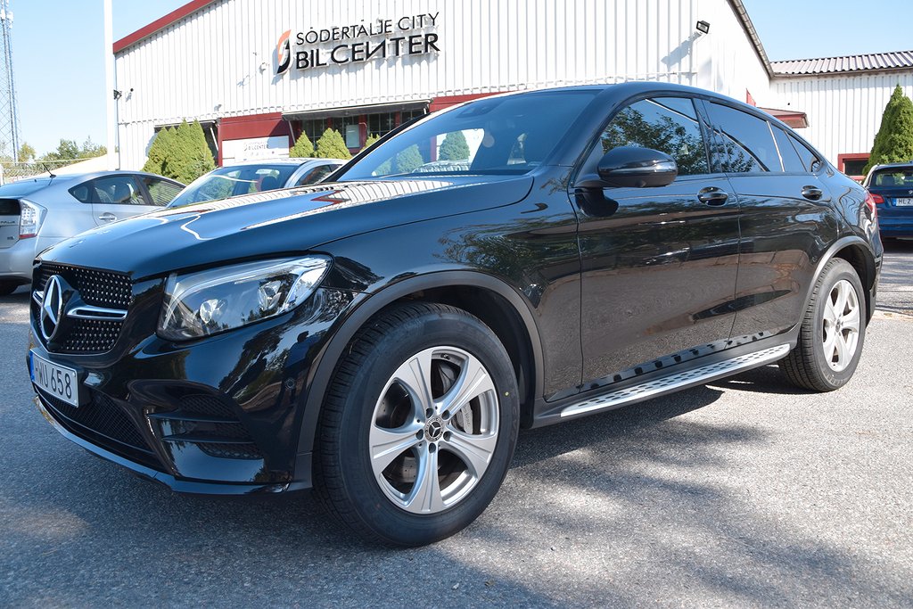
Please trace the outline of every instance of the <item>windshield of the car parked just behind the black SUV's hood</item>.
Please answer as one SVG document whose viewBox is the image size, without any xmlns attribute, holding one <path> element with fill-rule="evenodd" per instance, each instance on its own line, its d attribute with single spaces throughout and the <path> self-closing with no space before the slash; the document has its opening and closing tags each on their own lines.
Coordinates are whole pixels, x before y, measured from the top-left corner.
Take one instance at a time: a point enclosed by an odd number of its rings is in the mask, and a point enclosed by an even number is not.
<svg viewBox="0 0 913 609">
<path fill-rule="evenodd" d="M 238 194 L 276 190 L 285 186 L 298 167 L 295 164 L 220 167 L 195 179 L 168 206 L 182 207 Z"/>
</svg>

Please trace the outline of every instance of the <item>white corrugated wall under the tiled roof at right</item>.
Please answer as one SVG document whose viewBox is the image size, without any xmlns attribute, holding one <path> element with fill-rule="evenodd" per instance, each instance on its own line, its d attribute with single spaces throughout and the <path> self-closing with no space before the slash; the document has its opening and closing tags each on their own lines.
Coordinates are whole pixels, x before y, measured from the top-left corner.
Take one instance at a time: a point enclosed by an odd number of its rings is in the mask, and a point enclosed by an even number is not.
<svg viewBox="0 0 913 609">
<path fill-rule="evenodd" d="M 913 72 L 774 79 L 783 110 L 801 110 L 809 126 L 799 130 L 832 163 L 838 154 L 870 152 L 887 100 L 897 85 L 913 98 Z"/>
</svg>

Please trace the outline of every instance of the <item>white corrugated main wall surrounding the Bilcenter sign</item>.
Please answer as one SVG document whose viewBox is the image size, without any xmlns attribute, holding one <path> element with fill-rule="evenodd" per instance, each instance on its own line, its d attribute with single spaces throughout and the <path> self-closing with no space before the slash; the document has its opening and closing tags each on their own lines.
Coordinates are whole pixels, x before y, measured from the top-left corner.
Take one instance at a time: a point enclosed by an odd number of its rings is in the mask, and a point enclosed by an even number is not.
<svg viewBox="0 0 913 609">
<path fill-rule="evenodd" d="M 156 124 L 656 79 L 693 84 L 694 5 L 725 0 L 223 0 L 117 57 L 121 166 L 145 160 Z M 310 27 L 439 13 L 439 55 L 277 77 L 276 45 Z M 708 17 L 704 17 L 708 18 Z"/>
</svg>

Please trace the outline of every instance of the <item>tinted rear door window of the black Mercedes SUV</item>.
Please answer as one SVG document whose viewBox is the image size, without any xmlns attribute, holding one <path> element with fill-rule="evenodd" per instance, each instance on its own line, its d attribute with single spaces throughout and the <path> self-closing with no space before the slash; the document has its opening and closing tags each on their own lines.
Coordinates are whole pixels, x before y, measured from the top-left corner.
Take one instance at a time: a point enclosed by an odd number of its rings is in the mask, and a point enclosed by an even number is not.
<svg viewBox="0 0 913 609">
<path fill-rule="evenodd" d="M 713 148 L 723 172 L 782 172 L 768 121 L 718 103 L 710 102 L 707 108 L 717 136 Z"/>
</svg>

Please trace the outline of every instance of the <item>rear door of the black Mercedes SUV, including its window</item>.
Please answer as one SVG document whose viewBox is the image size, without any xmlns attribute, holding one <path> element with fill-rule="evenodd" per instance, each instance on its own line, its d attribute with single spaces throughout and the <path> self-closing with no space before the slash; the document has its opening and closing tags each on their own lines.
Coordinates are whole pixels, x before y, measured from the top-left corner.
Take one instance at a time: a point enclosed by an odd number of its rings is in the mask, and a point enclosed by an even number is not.
<svg viewBox="0 0 913 609">
<path fill-rule="evenodd" d="M 839 229 L 820 175 L 829 170 L 813 156 L 803 161 L 792 136 L 761 115 L 717 101 L 705 106 L 713 124 L 711 162 L 726 173 L 740 204 L 732 337 L 788 331 L 802 317 L 805 289 Z"/>
</svg>

